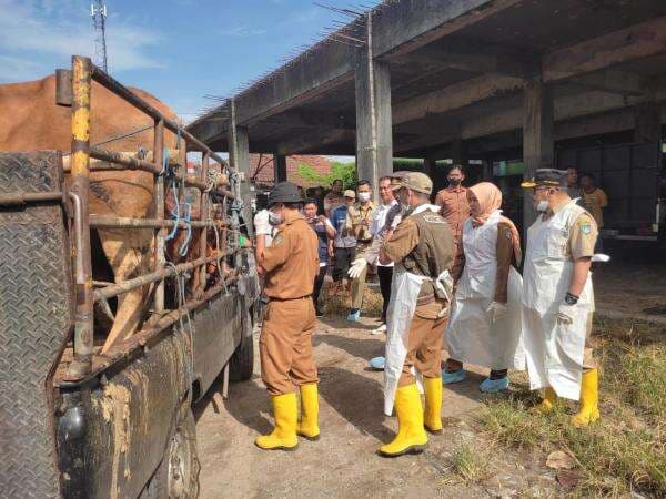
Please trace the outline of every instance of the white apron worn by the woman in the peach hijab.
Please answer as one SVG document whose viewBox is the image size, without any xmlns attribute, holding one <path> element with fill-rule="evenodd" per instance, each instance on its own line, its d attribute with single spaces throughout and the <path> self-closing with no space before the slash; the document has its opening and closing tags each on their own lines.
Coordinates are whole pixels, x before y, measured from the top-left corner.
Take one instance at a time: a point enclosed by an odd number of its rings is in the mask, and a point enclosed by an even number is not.
<svg viewBox="0 0 666 499">
<path fill-rule="evenodd" d="M 477 227 L 463 224 L 465 266 L 456 285 L 446 342 L 451 358 L 494 370 L 524 369 L 521 340 L 523 281 L 512 266 L 508 273 L 506 314 L 493 322 L 486 310 L 495 298 L 497 223 L 501 210 Z"/>
</svg>

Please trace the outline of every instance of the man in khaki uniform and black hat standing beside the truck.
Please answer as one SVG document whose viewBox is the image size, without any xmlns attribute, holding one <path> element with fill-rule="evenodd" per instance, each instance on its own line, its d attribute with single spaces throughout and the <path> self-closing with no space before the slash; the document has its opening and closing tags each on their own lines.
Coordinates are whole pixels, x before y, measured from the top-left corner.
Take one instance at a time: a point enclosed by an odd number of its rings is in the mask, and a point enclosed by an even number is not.
<svg viewBox="0 0 666 499">
<path fill-rule="evenodd" d="M 269 304 L 259 339 L 261 377 L 273 403 L 275 428 L 258 437 L 266 450 L 293 450 L 296 435 L 317 439 L 317 373 L 312 357 L 316 326 L 312 289 L 319 273 L 316 234 L 301 214 L 303 200 L 291 182 L 275 185 L 269 195 L 269 215 L 279 227 L 271 247 L 256 243 L 256 263 L 265 278 Z M 301 424 L 294 385 L 301 391 Z"/>
</svg>

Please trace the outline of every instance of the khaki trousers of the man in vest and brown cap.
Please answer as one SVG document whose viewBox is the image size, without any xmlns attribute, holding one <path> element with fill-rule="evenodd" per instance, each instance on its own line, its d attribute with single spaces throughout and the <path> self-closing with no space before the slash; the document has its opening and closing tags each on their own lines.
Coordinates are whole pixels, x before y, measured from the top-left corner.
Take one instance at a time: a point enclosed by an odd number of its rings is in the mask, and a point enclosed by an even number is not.
<svg viewBox="0 0 666 499">
<path fill-rule="evenodd" d="M 438 378 L 442 376 L 442 340 L 444 329 L 448 322 L 448 314 L 437 317 L 445 305 L 445 301 L 436 301 L 428 305 L 416 307 L 412 326 L 410 327 L 410 339 L 407 342 L 407 357 L 403 365 L 403 371 L 397 383 L 398 387 L 416 383 L 412 374 L 414 367 L 425 378 Z"/>
</svg>

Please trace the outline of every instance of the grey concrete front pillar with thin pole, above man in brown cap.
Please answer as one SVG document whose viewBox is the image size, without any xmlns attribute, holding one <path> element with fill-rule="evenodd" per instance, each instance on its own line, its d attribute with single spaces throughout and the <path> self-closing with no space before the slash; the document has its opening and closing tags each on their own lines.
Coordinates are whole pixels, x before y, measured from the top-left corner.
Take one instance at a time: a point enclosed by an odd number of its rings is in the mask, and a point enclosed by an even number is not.
<svg viewBox="0 0 666 499">
<path fill-rule="evenodd" d="M 356 52 L 356 173 L 367 180 L 379 201 L 379 180 L 393 171 L 391 75 L 389 64 L 372 52 L 372 17 L 366 17 L 366 47 Z"/>
</svg>

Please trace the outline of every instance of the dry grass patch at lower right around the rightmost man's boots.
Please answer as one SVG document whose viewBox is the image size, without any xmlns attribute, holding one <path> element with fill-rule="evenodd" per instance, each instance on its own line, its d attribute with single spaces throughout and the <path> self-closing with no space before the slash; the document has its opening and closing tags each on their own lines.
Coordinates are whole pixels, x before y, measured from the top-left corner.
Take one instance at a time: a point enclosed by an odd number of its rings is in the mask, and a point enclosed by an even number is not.
<svg viewBox="0 0 666 499">
<path fill-rule="evenodd" d="M 571 454 L 582 477 L 575 493 L 665 497 L 665 333 L 647 325 L 596 324 L 602 420 L 592 427 L 569 424 L 576 404 L 561 404 L 547 416 L 528 413 L 538 397 L 519 374 L 516 393 L 488 401 L 483 430 L 500 445 Z"/>
</svg>

